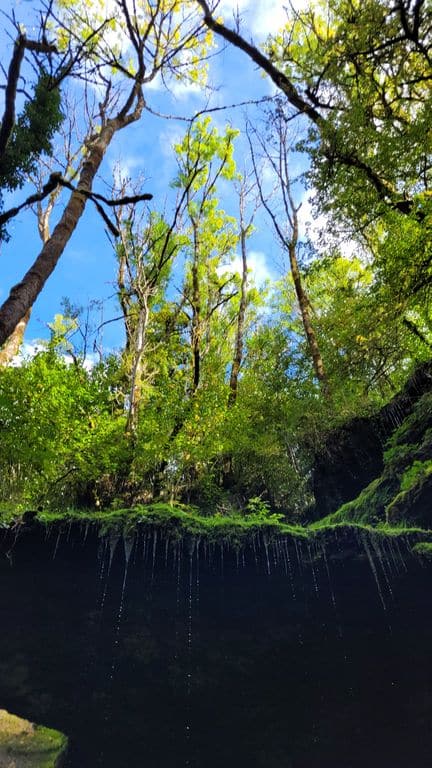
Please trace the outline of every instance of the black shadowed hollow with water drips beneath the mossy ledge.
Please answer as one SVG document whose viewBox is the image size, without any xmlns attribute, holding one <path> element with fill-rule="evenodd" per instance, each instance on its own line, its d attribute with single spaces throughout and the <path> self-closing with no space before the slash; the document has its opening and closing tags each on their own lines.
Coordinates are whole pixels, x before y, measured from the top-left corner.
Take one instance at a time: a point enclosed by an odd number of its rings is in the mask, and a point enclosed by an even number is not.
<svg viewBox="0 0 432 768">
<path fill-rule="evenodd" d="M 0 706 L 67 768 L 430 768 L 431 576 L 403 540 L 8 536 Z"/>
</svg>

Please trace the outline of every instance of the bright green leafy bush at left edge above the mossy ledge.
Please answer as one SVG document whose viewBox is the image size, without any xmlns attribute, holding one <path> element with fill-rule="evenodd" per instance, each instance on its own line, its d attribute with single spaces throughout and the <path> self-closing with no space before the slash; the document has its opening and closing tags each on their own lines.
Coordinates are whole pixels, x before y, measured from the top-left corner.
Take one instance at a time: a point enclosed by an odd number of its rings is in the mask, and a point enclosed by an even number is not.
<svg viewBox="0 0 432 768">
<path fill-rule="evenodd" d="M 101 369 L 48 351 L 0 370 L 1 497 L 27 507 L 99 501 L 121 473 L 124 417 Z"/>
</svg>

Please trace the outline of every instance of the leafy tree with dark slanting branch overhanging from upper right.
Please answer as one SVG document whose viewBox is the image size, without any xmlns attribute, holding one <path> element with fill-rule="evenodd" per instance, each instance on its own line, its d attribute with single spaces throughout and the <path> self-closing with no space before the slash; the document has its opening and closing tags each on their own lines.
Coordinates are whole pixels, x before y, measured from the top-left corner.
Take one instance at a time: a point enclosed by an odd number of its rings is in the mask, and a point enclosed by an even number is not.
<svg viewBox="0 0 432 768">
<path fill-rule="evenodd" d="M 291 7 L 284 29 L 261 51 L 198 2 L 209 28 L 272 79 L 290 119 L 301 118 L 298 149 L 311 161 L 316 211 L 361 243 L 377 286 L 392 295 L 386 307 L 398 306 L 407 328 L 413 316 L 425 317 L 432 283 L 429 5 Z M 380 322 L 384 331 L 386 317 Z"/>
</svg>

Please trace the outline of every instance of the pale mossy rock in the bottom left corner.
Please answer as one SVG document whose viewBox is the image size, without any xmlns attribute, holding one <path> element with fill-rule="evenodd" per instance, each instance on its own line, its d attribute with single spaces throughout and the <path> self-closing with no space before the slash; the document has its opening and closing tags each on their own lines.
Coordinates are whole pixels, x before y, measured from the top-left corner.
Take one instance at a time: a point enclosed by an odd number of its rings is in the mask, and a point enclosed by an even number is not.
<svg viewBox="0 0 432 768">
<path fill-rule="evenodd" d="M 0 768 L 60 768 L 67 738 L 0 709 Z"/>
</svg>

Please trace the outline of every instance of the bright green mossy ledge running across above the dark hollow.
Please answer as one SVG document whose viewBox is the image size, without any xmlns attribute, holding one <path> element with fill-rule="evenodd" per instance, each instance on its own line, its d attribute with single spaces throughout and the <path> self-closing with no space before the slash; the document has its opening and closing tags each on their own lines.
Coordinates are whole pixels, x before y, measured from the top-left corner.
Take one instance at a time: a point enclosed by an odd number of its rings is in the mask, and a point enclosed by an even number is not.
<svg viewBox="0 0 432 768">
<path fill-rule="evenodd" d="M 429 385 L 429 381 L 426 384 Z M 406 397 L 406 392 L 403 396 Z M 400 410 L 400 404 L 398 407 Z M 359 439 L 357 423 L 349 429 L 356 446 Z M 364 424 L 361 429 L 363 434 Z M 368 429 L 374 429 L 372 420 Z M 335 433 L 334 443 L 336 437 Z M 345 438 L 344 446 L 347 444 Z M 288 513 L 275 513 L 268 503 L 254 498 L 244 509 L 230 508 L 225 513 L 215 514 L 205 513 L 192 505 L 163 501 L 116 509 L 40 510 L 24 514 L 4 506 L 0 511 L 0 527 L 19 530 L 22 524 L 39 524 L 63 530 L 71 525 L 86 529 L 90 526 L 101 536 L 118 533 L 124 537 L 132 536 L 137 528 L 146 528 L 157 531 L 161 539 L 173 543 L 189 539 L 231 547 L 247 545 L 257 535 L 267 540 L 279 536 L 315 539 L 326 538 L 335 529 L 344 528 L 375 531 L 380 535 L 412 535 L 417 554 L 427 556 L 426 550 L 421 551 L 417 545 L 422 539 L 429 546 L 429 536 L 432 537 L 432 392 L 423 390 L 416 400 L 409 402 L 399 426 L 387 440 L 382 440 L 380 454 L 378 458 L 382 461 L 378 470 L 382 467 L 382 471 L 378 477 L 356 498 L 309 523 L 304 518 L 300 518 L 300 523 Z M 334 477 L 337 477 L 339 484 L 345 483 L 349 492 L 350 473 L 355 471 L 355 461 L 361 463 L 362 457 L 353 450 L 346 458 L 344 465 L 343 457 L 338 457 L 332 482 L 334 484 Z M 330 456 L 330 473 L 331 460 Z M 371 472 L 368 479 L 370 475 Z M 330 485 L 333 487 L 332 483 Z"/>
</svg>

